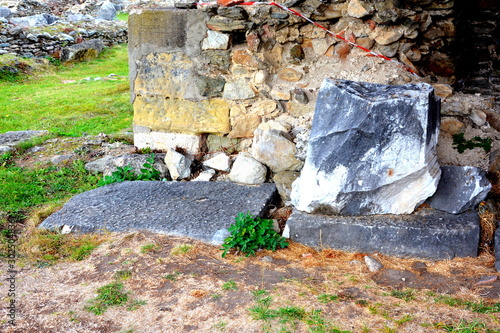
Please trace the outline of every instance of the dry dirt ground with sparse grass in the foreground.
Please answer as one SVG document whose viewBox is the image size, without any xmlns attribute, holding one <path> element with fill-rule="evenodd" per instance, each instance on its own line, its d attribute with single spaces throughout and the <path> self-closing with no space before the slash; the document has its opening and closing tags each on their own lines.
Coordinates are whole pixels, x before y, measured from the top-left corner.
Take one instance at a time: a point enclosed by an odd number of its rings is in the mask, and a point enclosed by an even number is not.
<svg viewBox="0 0 500 333">
<path fill-rule="evenodd" d="M 218 247 L 190 239 L 109 234 L 83 261 L 49 267 L 19 262 L 16 326 L 7 322 L 9 283 L 2 279 L 0 331 L 444 332 L 477 323 L 483 325 L 479 330 L 448 332 L 500 332 L 498 312 L 479 313 L 464 305 L 500 302 L 500 280 L 491 281 L 498 276 L 493 256 L 429 262 L 372 255 L 385 266 L 378 273 L 369 272 L 364 254 L 317 252 L 296 243 L 255 257 L 223 259 Z M 7 276 L 6 263 L 0 267 L 0 275 Z M 478 285 L 485 277 L 490 282 Z M 101 315 L 85 310 L 97 289 L 114 281 L 141 301 L 137 309 L 113 306 Z M 322 324 L 256 319 L 251 309 L 262 304 L 255 292 L 263 289 L 272 297 L 270 309 L 321 310 L 314 313 Z M 446 299 L 462 303 L 444 304 Z"/>
</svg>

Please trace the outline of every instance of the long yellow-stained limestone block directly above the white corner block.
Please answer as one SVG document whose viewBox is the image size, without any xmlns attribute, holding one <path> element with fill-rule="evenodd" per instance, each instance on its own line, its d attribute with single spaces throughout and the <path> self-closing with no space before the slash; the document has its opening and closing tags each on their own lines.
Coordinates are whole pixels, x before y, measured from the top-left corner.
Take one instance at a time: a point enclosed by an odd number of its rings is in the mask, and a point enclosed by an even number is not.
<svg viewBox="0 0 500 333">
<path fill-rule="evenodd" d="M 137 96 L 134 124 L 162 132 L 226 134 L 230 130 L 229 106 L 218 98 L 192 102 L 161 96 Z"/>
</svg>

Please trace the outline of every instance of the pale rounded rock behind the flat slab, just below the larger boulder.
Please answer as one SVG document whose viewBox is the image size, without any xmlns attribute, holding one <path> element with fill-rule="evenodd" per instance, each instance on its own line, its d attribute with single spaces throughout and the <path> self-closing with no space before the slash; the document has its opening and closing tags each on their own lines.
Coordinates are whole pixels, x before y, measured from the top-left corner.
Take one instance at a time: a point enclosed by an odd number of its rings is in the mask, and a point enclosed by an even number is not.
<svg viewBox="0 0 500 333">
<path fill-rule="evenodd" d="M 239 153 L 229 173 L 235 183 L 258 185 L 266 181 L 267 169 L 247 153 Z"/>
</svg>

